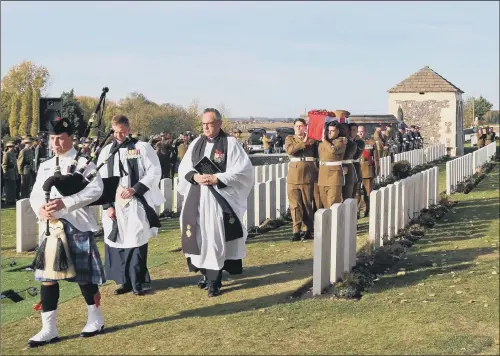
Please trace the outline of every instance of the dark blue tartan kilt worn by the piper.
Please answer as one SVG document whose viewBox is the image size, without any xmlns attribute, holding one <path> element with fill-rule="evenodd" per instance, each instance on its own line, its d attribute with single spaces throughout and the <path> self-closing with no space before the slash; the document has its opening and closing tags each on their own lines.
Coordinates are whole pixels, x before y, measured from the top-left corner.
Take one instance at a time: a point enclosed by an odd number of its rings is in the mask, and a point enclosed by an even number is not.
<svg viewBox="0 0 500 356">
<path fill-rule="evenodd" d="M 101 285 L 106 282 L 101 255 L 97 248 L 94 233 L 92 231 L 79 231 L 68 221 L 60 219 L 64 225 L 64 233 L 68 241 L 71 260 L 75 267 L 76 276 L 65 279 L 69 282 L 92 283 Z M 40 244 L 43 239 L 40 240 Z M 42 271 L 35 270 L 35 280 L 39 282 L 51 282 L 52 279 L 42 277 Z"/>
</svg>

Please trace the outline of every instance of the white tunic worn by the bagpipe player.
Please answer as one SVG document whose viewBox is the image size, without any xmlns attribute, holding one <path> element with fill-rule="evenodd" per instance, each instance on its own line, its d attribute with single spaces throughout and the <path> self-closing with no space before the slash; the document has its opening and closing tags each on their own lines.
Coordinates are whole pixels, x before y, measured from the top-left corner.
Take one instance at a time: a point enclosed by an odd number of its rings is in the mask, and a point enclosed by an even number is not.
<svg viewBox="0 0 500 356">
<path fill-rule="evenodd" d="M 65 154 L 59 155 L 59 167 L 61 168 L 61 173 L 63 175 L 68 171 L 68 168 L 71 166 L 71 163 L 75 156 L 76 150 L 74 148 L 72 148 Z M 86 161 L 86 158 L 80 157 L 80 159 L 78 160 L 79 165 L 77 167 L 77 170 L 81 166 L 83 166 Z M 33 185 L 33 190 L 31 191 L 30 195 L 31 208 L 35 212 L 38 219 L 40 219 L 40 208 L 46 202 L 45 192 L 43 191 L 43 183 L 45 183 L 47 178 L 54 175 L 55 167 L 56 158 L 52 157 L 51 159 L 41 163 L 40 168 L 38 169 L 35 184 Z M 85 170 L 84 175 L 86 176 L 93 169 L 95 169 L 95 165 L 93 163 L 90 163 Z M 56 212 L 54 214 L 54 217 L 56 219 L 66 219 L 71 225 L 82 232 L 96 232 L 98 230 L 97 221 L 95 220 L 94 215 L 90 211 L 90 207 L 88 207 L 88 205 L 99 199 L 101 197 L 102 191 L 103 183 L 99 173 L 82 191 L 71 196 L 63 197 L 56 187 L 52 187 L 52 190 L 50 191 L 50 198 L 61 198 L 65 205 L 65 208 Z M 45 220 L 39 220 L 40 237 L 45 233 L 45 229 Z"/>
</svg>

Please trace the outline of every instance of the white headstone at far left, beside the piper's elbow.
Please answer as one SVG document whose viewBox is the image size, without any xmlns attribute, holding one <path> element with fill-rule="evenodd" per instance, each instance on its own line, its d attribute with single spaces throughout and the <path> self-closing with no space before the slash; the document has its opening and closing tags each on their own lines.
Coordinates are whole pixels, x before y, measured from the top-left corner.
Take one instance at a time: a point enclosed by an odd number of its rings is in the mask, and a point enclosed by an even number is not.
<svg viewBox="0 0 500 356">
<path fill-rule="evenodd" d="M 33 250 L 38 245 L 37 218 L 29 199 L 16 202 L 16 252 Z"/>
</svg>

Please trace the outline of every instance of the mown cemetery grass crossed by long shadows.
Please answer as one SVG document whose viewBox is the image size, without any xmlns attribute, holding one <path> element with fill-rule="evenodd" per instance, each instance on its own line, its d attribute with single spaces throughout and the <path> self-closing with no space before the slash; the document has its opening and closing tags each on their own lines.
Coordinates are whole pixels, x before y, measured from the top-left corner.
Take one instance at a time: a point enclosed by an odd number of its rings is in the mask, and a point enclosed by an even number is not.
<svg viewBox="0 0 500 356">
<path fill-rule="evenodd" d="M 439 166 L 439 191 L 445 164 Z M 87 311 L 78 286 L 62 282 L 62 341 L 27 350 L 41 328 L 39 297 L 2 302 L 2 354 L 498 354 L 499 166 L 427 231 L 360 301 L 292 298 L 312 278 L 313 243 L 289 242 L 290 225 L 247 241 L 241 276 L 223 277 L 208 298 L 187 272 L 177 219 L 163 220 L 150 241 L 153 290 L 114 296 L 101 287 L 106 333 L 82 339 Z M 33 273 L 7 272 L 31 263 L 15 252 L 15 211 L 1 212 L 1 290 L 38 286 Z M 358 249 L 368 219 L 358 223 Z M 99 248 L 103 254 L 102 238 Z M 401 273 L 404 271 L 404 273 Z"/>
</svg>

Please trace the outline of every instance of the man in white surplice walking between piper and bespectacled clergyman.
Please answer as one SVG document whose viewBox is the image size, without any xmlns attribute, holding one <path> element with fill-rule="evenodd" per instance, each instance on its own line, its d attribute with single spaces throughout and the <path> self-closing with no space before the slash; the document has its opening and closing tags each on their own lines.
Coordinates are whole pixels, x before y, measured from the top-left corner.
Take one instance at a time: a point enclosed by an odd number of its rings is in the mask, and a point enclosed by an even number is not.
<svg viewBox="0 0 500 356">
<path fill-rule="evenodd" d="M 158 234 L 160 227 L 155 207 L 165 201 L 158 187 L 161 166 L 149 143 L 129 138 L 130 124 L 126 116 L 116 115 L 111 126 L 114 141 L 102 149 L 98 164 L 113 148 L 127 141 L 100 170 L 103 180 L 120 177 L 115 203 L 103 205 L 106 278 L 121 285 L 115 294 L 132 291 L 143 295 L 143 286 L 151 283 L 147 268 L 148 241 Z"/>
</svg>

